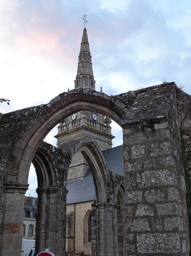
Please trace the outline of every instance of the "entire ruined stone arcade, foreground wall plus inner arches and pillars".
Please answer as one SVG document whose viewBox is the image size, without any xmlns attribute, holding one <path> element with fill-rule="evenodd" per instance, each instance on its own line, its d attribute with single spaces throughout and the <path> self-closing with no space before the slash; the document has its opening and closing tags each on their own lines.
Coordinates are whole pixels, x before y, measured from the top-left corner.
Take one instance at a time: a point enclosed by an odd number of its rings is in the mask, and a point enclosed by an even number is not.
<svg viewBox="0 0 191 256">
<path fill-rule="evenodd" d="M 118 256 L 118 233 L 115 232 L 119 227 L 118 187 L 93 140 L 82 139 L 70 154 L 50 146 L 46 147 L 47 154 L 42 154 L 42 148 L 38 152 L 40 143 L 56 124 L 81 110 L 104 114 L 123 128 L 128 255 L 188 255 L 180 126 L 186 127 L 189 134 L 190 106 L 191 96 L 178 91 L 174 83 L 166 83 L 117 96 L 86 89 L 71 90 L 55 97 L 49 104 L 1 116 L 0 256 L 19 256 L 21 253 L 24 193 L 36 152 L 36 161 L 42 163 L 39 165 L 38 200 L 42 206 L 39 220 L 52 231 L 51 236 L 45 236 L 44 225 L 39 223 L 38 243 L 49 244 L 58 256 L 63 255 L 64 246 L 60 249 L 51 243 L 55 234 L 58 244 L 62 243 L 66 224 L 60 225 L 65 212 L 66 172 L 63 173 L 60 160 L 55 161 L 55 155 L 59 159 L 63 157 L 67 171 L 73 152 L 79 149 L 91 167 L 96 188 L 96 244 L 93 251 L 96 256 Z M 49 221 L 55 216 L 58 216 L 56 227 Z"/>
</svg>

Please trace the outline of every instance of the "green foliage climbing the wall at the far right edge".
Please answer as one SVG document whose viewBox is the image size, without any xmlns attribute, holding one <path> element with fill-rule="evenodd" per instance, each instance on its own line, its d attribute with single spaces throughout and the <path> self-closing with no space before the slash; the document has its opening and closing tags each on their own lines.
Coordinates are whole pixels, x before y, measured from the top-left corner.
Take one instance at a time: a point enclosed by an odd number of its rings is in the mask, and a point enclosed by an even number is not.
<svg viewBox="0 0 191 256">
<path fill-rule="evenodd" d="M 187 211 L 188 211 L 188 219 L 189 219 L 189 236 L 190 236 L 190 243 L 191 243 L 191 178 L 190 178 L 189 169 L 188 169 L 188 162 L 191 160 L 191 155 L 185 154 L 185 141 L 183 139 L 183 135 L 185 133 L 186 133 L 185 130 L 180 129 L 181 152 L 182 152 L 183 166 L 185 169 L 186 203 L 187 203 Z"/>
</svg>

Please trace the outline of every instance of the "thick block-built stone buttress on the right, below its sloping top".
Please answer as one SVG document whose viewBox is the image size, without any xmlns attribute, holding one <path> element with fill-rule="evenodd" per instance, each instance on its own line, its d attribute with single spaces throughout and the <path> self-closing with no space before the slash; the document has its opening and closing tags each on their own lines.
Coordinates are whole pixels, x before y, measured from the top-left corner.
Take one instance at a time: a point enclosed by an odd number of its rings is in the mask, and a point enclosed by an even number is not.
<svg viewBox="0 0 191 256">
<path fill-rule="evenodd" d="M 180 133 L 170 121 L 123 127 L 128 255 L 188 255 Z"/>
</svg>

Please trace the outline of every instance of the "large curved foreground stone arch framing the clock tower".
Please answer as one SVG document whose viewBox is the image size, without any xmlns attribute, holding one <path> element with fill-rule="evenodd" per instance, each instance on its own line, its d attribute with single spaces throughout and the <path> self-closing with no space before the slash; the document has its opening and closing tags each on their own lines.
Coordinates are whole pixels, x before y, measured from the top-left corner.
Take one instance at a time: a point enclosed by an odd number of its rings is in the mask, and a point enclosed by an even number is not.
<svg viewBox="0 0 191 256">
<path fill-rule="evenodd" d="M 120 126 L 122 126 L 127 112 L 125 105 L 119 99 L 86 89 L 63 92 L 47 105 L 27 109 L 29 123 L 27 126 L 23 126 L 24 134 L 16 136 L 15 145 L 10 155 L 10 160 L 14 158 L 15 162 L 21 162 L 19 172 L 22 172 L 23 167 L 29 169 L 37 148 L 50 130 L 65 117 L 81 110 L 104 114 Z M 16 115 L 24 115 L 26 118 L 24 110 L 16 112 L 19 112 Z M 19 177 L 18 182 L 21 182 Z"/>
</svg>

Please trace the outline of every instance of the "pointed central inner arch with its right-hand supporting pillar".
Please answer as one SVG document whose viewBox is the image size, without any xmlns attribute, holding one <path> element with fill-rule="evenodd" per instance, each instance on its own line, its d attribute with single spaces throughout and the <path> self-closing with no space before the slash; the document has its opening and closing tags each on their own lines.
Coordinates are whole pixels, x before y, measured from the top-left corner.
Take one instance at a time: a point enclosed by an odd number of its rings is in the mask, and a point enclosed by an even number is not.
<svg viewBox="0 0 191 256">
<path fill-rule="evenodd" d="M 92 217 L 96 221 L 93 224 L 96 228 L 94 228 L 95 241 L 92 241 L 92 251 L 95 251 L 96 248 L 97 253 L 105 255 L 112 248 L 117 255 L 117 204 L 113 203 L 113 195 L 117 194 L 115 192 L 116 185 L 115 179 L 112 179 L 112 173 L 108 171 L 102 152 L 91 137 L 65 142 L 59 146 L 59 149 L 67 151 L 71 157 L 75 153 L 81 152 L 94 178 L 96 202 L 93 206 L 94 210 L 92 208 Z M 110 234 L 111 229 L 113 231 L 112 236 Z M 110 244 L 106 243 L 107 240 L 110 240 Z M 103 242 L 100 243 L 100 241 Z M 96 247 L 94 248 L 95 244 Z"/>
</svg>

